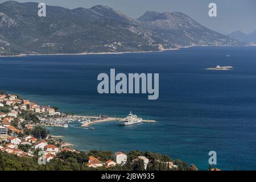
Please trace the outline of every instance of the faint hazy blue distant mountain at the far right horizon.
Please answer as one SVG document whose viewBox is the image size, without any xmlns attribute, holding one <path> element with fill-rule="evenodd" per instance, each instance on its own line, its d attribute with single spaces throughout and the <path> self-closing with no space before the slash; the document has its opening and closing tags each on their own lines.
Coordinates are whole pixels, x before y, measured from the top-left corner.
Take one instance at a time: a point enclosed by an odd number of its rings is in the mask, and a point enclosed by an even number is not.
<svg viewBox="0 0 256 182">
<path fill-rule="evenodd" d="M 256 30 L 250 34 L 245 34 L 242 31 L 235 31 L 232 34 L 229 34 L 231 38 L 237 39 L 240 42 L 247 44 L 256 44 Z"/>
</svg>

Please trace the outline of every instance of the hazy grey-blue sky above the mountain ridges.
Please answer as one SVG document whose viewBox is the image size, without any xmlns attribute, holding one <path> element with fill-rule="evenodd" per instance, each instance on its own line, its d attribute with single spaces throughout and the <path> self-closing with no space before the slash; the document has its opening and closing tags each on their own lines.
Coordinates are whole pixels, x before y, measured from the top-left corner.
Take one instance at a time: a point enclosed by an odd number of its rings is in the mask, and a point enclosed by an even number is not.
<svg viewBox="0 0 256 182">
<path fill-rule="evenodd" d="M 5 2 L 6 0 L 0 0 Z M 95 5 L 110 6 L 131 18 L 138 18 L 146 10 L 180 11 L 204 26 L 228 34 L 241 30 L 250 33 L 256 30 L 255 0 L 17 0 L 18 2 L 44 2 L 46 5 L 90 8 Z M 208 16 L 210 2 L 217 4 L 217 17 Z"/>
</svg>

